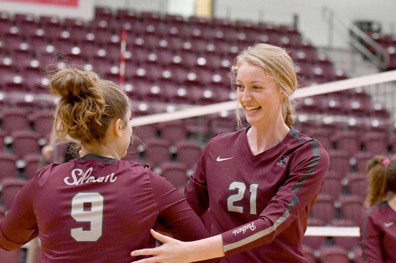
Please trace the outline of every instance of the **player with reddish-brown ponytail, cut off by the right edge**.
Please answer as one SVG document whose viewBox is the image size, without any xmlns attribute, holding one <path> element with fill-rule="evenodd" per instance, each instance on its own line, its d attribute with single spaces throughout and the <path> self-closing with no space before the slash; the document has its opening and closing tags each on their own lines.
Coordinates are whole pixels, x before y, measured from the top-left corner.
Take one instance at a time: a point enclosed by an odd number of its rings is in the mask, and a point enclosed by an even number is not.
<svg viewBox="0 0 396 263">
<path fill-rule="evenodd" d="M 368 209 L 360 224 L 364 262 L 396 262 L 396 157 L 374 156 L 366 173 Z"/>
</svg>

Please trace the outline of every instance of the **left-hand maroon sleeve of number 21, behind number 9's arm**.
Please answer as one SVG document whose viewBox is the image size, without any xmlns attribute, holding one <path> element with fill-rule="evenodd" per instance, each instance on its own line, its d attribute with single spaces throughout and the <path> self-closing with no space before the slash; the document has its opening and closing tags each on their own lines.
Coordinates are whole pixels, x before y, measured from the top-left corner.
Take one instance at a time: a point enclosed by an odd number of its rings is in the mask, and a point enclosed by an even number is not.
<svg viewBox="0 0 396 263">
<path fill-rule="evenodd" d="M 202 217 L 209 208 L 205 167 L 210 143 L 211 141 L 203 149 L 195 173 L 190 176 L 190 181 L 185 187 L 186 200 L 199 217 Z"/>
</svg>

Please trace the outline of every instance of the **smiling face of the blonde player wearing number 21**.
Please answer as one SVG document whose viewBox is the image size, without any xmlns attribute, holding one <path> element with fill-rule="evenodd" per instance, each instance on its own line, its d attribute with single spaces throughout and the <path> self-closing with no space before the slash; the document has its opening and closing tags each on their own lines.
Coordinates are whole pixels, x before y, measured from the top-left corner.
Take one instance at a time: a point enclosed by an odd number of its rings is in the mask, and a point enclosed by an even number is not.
<svg viewBox="0 0 396 263">
<path fill-rule="evenodd" d="M 252 126 L 265 126 L 283 121 L 284 95 L 263 68 L 243 62 L 238 68 L 237 97 Z"/>
</svg>

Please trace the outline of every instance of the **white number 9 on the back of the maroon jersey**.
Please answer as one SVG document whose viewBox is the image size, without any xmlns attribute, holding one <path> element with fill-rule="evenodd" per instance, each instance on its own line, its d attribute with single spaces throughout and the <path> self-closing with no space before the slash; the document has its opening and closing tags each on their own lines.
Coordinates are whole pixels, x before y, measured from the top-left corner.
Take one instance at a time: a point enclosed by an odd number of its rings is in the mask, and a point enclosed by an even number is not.
<svg viewBox="0 0 396 263">
<path fill-rule="evenodd" d="M 97 241 L 102 235 L 103 201 L 99 193 L 78 193 L 71 201 L 71 216 L 78 222 L 90 222 L 90 229 L 82 227 L 70 229 L 76 241 Z M 84 203 L 91 203 L 90 210 L 84 210 Z"/>
</svg>

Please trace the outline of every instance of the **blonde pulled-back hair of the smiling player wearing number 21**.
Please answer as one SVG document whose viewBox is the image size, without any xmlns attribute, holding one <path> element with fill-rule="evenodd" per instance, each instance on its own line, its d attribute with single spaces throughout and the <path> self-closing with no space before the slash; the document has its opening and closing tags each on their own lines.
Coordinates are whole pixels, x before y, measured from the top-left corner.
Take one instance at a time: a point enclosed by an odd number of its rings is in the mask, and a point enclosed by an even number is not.
<svg viewBox="0 0 396 263">
<path fill-rule="evenodd" d="M 231 66 L 229 75 L 233 83 L 243 62 L 261 67 L 274 80 L 279 91 L 286 95 L 282 105 L 282 117 L 287 126 L 293 126 L 296 103 L 291 99 L 291 96 L 296 90 L 298 82 L 293 59 L 287 51 L 282 47 L 263 43 L 247 47 L 238 54 Z M 236 115 L 238 124 L 241 126 L 239 113 L 237 112 Z"/>
</svg>

